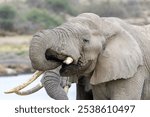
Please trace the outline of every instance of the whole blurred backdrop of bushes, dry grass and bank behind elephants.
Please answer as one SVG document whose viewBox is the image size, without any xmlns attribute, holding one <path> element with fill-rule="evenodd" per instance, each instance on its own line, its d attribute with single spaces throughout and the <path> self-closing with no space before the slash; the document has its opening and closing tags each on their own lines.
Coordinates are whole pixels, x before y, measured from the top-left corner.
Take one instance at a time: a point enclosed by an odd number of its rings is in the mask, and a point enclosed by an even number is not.
<svg viewBox="0 0 150 117">
<path fill-rule="evenodd" d="M 0 77 L 0 84 L 7 84 L 6 78 L 11 82 L 8 75 L 33 71 L 28 50 L 35 32 L 83 12 L 145 25 L 150 23 L 150 0 L 0 0 L 0 76 L 7 76 Z"/>
</svg>

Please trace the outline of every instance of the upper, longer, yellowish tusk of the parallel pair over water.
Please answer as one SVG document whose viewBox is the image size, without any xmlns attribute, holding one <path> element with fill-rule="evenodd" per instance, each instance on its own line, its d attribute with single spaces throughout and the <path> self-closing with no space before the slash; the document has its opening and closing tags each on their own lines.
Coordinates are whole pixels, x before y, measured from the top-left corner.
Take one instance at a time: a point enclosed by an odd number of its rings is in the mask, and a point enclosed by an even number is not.
<svg viewBox="0 0 150 117">
<path fill-rule="evenodd" d="M 34 75 L 32 76 L 32 78 L 29 79 L 27 82 L 13 88 L 13 89 L 10 89 L 9 91 L 6 91 L 5 93 L 9 94 L 9 93 L 16 93 L 16 92 L 20 91 L 21 89 L 27 87 L 29 84 L 31 84 L 33 81 L 35 81 L 43 73 L 44 73 L 43 71 L 36 71 L 34 73 Z"/>
</svg>

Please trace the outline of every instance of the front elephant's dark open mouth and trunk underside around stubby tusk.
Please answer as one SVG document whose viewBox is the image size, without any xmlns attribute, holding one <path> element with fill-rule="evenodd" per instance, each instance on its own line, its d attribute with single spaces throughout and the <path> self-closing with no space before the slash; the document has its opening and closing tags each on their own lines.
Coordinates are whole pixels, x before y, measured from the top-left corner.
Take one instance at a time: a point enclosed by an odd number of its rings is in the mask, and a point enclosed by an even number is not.
<svg viewBox="0 0 150 117">
<path fill-rule="evenodd" d="M 75 62 L 76 60 L 71 55 L 60 54 L 51 49 L 45 52 L 45 58 L 48 61 L 61 65 L 59 71 L 61 76 L 82 74 L 91 65 L 91 61 L 83 63 L 80 57 L 77 62 Z"/>
</svg>

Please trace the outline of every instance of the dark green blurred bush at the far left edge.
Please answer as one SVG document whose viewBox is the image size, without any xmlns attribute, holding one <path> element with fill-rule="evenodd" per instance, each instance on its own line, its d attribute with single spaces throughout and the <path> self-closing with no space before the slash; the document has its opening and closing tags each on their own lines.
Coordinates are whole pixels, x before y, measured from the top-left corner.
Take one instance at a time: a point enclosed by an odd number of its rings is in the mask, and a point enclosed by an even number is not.
<svg viewBox="0 0 150 117">
<path fill-rule="evenodd" d="M 11 31 L 16 16 L 16 10 L 10 5 L 0 5 L 0 28 Z"/>
</svg>

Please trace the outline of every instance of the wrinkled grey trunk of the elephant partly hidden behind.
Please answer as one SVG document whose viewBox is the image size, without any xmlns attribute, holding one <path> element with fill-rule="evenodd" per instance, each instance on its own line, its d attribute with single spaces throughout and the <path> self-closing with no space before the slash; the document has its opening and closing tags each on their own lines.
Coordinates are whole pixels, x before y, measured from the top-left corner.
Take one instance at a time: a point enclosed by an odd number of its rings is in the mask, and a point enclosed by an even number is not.
<svg viewBox="0 0 150 117">
<path fill-rule="evenodd" d="M 61 77 L 59 69 L 48 70 L 44 73 L 41 83 L 44 86 L 47 94 L 56 100 L 68 100 L 68 96 L 64 91 L 64 87 L 70 86 L 68 77 Z"/>
</svg>

